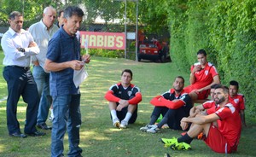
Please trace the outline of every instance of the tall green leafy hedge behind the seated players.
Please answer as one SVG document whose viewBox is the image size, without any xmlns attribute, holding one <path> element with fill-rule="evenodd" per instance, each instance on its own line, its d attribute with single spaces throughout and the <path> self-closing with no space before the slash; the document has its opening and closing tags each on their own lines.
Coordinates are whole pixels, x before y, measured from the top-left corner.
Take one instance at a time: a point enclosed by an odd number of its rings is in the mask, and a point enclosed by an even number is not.
<svg viewBox="0 0 256 157">
<path fill-rule="evenodd" d="M 240 83 L 248 117 L 255 117 L 256 1 L 170 0 L 172 59 L 189 72 L 199 49 L 218 68 L 222 84 Z M 245 79 L 246 78 L 246 79 Z"/>
</svg>

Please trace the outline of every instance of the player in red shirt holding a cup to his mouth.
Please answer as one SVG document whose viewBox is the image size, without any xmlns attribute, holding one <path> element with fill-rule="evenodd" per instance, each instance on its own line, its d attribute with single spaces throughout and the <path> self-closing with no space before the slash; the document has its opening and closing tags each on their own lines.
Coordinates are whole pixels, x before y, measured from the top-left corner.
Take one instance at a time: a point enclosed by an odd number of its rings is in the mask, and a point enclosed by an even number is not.
<svg viewBox="0 0 256 157">
<path fill-rule="evenodd" d="M 189 90 L 189 96 L 194 102 L 203 103 L 207 101 L 211 85 L 220 84 L 220 80 L 216 67 L 207 61 L 207 52 L 204 49 L 197 52 L 197 60 L 199 62 L 190 69 L 190 85 L 184 90 Z"/>
</svg>

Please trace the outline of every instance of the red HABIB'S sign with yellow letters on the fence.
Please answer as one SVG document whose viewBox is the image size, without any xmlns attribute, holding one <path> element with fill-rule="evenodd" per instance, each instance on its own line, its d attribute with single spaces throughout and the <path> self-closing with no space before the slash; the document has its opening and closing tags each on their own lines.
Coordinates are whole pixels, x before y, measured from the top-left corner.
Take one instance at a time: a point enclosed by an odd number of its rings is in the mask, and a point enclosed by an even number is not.
<svg viewBox="0 0 256 157">
<path fill-rule="evenodd" d="M 81 48 L 125 49 L 125 33 L 122 32 L 80 32 Z"/>
</svg>

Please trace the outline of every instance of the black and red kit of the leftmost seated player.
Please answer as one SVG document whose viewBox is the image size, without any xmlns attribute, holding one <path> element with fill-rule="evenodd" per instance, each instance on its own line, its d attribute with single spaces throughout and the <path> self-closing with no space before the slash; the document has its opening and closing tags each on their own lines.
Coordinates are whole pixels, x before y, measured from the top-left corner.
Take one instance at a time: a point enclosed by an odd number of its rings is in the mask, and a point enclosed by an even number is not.
<svg viewBox="0 0 256 157">
<path fill-rule="evenodd" d="M 139 102 L 142 101 L 142 94 L 140 89 L 134 85 L 130 84 L 127 88 L 124 88 L 121 83 L 119 84 L 113 84 L 108 92 L 105 95 L 105 98 L 109 102 L 116 102 L 117 105 L 119 105 L 119 100 L 128 100 L 129 104 L 131 105 L 137 105 Z M 127 113 L 127 109 L 123 108 L 121 111 L 117 111 L 117 116 L 119 120 L 125 119 L 125 115 Z M 132 113 L 131 119 L 129 120 L 129 124 L 132 124 L 137 119 L 137 109 Z"/>
</svg>

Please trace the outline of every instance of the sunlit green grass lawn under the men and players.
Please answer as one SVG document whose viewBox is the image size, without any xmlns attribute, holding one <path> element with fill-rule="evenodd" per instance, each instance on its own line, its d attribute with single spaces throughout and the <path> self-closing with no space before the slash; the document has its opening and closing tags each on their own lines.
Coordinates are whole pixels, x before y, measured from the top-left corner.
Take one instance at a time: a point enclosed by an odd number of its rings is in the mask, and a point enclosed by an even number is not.
<svg viewBox="0 0 256 157">
<path fill-rule="evenodd" d="M 0 54 L 3 58 L 3 53 Z M 125 130 L 113 128 L 110 120 L 108 102 L 104 95 L 108 88 L 120 80 L 123 69 L 130 68 L 134 73 L 133 84 L 137 84 L 143 93 L 143 102 L 139 104 L 138 118 L 134 125 Z M 2 70 L 2 69 L 1 69 Z M 1 72 L 2 73 L 2 72 Z M 149 122 L 153 106 L 149 104 L 152 97 L 160 95 L 172 88 L 172 82 L 177 75 L 182 75 L 189 84 L 189 73 L 177 71 L 173 63 L 136 62 L 124 59 L 108 59 L 92 57 L 88 67 L 89 77 L 81 85 L 81 113 L 83 124 L 80 130 L 80 147 L 84 156 L 88 157 L 119 157 L 142 156 L 162 157 L 165 153 L 172 156 L 225 156 L 212 152 L 207 145 L 198 140 L 191 144 L 191 151 L 173 151 L 164 148 L 159 142 L 161 137 L 179 137 L 182 131 L 162 130 L 157 134 L 139 131 L 139 128 Z M 6 84 L 0 78 L 0 99 L 7 96 Z M 9 137 L 6 127 L 6 101 L 0 102 L 0 156 L 6 157 L 42 157 L 50 156 L 50 131 L 44 137 L 27 137 L 25 139 Z M 18 119 L 23 131 L 26 104 L 18 105 Z M 50 122 L 47 122 L 50 125 Z M 250 124 L 250 123 L 249 123 Z M 256 137 L 255 125 L 251 124 L 242 130 L 241 141 L 236 154 L 226 156 L 256 156 L 253 140 Z M 65 136 L 65 152 L 68 142 Z"/>
</svg>

